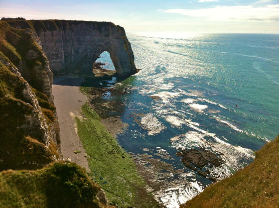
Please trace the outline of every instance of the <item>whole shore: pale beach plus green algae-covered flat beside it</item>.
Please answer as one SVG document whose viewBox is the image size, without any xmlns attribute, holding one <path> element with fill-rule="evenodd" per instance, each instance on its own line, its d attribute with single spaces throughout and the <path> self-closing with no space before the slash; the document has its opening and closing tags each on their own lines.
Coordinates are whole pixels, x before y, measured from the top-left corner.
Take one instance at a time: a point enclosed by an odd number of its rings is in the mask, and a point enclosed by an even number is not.
<svg viewBox="0 0 279 208">
<path fill-rule="evenodd" d="M 63 158 L 70 158 L 86 168 L 88 176 L 106 193 L 110 205 L 159 207 L 147 191 L 132 156 L 116 140 L 116 134 L 125 128 L 125 124 L 118 116 L 102 118 L 96 113 L 94 108 L 102 108 L 102 104 L 87 93 L 95 88 L 80 87 L 84 81 L 78 76 L 54 79 L 53 95 Z M 96 93 L 94 90 L 91 93 Z M 80 152 L 76 154 L 75 151 Z"/>
</svg>

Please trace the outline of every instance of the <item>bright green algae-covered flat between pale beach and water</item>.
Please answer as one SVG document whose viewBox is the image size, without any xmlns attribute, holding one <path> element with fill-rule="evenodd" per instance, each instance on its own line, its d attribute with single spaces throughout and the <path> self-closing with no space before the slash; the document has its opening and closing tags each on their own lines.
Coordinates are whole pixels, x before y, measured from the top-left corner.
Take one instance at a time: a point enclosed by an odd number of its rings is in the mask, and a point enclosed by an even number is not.
<svg viewBox="0 0 279 208">
<path fill-rule="evenodd" d="M 76 117 L 76 122 L 92 171 L 89 176 L 104 189 L 109 203 L 121 208 L 158 207 L 146 192 L 133 159 L 118 145 L 99 115 L 88 104 L 82 107 L 82 112 L 85 117 L 82 120 Z"/>
</svg>

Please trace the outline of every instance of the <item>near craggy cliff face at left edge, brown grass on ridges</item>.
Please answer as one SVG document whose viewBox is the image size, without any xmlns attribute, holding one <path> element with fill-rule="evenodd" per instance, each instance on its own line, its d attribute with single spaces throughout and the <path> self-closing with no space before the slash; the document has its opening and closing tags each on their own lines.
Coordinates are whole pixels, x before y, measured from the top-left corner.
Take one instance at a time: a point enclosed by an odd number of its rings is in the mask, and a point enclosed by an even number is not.
<svg viewBox="0 0 279 208">
<path fill-rule="evenodd" d="M 0 23 L 0 170 L 37 169 L 61 159 L 52 72 L 30 28 Z"/>
</svg>

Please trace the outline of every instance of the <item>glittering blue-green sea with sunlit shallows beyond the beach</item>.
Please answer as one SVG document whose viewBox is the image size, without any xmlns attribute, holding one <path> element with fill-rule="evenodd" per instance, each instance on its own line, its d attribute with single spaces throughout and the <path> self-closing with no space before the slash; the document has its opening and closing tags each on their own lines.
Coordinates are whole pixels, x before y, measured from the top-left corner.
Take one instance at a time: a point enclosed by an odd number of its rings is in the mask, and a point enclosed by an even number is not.
<svg viewBox="0 0 279 208">
<path fill-rule="evenodd" d="M 222 180 L 279 134 L 279 34 L 127 36 L 140 71 L 115 83 L 131 93 L 109 98 L 124 103 L 120 116 L 128 125 L 117 140 L 167 208 L 213 183 L 177 152 L 214 153 L 224 163 L 202 170 Z M 106 53 L 100 61 L 113 69 Z"/>
</svg>

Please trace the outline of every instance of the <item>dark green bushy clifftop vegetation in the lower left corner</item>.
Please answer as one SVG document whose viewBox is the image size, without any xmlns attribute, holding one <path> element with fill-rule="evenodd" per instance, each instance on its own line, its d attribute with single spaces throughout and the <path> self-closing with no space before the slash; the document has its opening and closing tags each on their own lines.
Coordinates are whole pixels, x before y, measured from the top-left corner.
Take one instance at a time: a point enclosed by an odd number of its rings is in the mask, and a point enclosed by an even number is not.
<svg viewBox="0 0 279 208">
<path fill-rule="evenodd" d="M 1 208 L 103 208 L 101 192 L 84 169 L 70 162 L 36 171 L 0 172 Z"/>
</svg>

